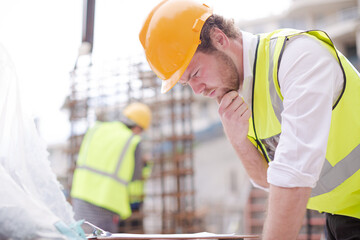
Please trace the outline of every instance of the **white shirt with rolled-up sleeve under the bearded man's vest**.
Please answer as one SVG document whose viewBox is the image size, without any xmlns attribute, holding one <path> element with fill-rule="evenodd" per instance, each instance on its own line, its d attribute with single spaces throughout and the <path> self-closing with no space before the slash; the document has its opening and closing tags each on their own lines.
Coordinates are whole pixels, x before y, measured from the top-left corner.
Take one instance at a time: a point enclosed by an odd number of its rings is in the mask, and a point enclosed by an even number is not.
<svg viewBox="0 0 360 240">
<path fill-rule="evenodd" d="M 241 33 L 244 84 L 239 94 L 251 106 L 257 36 Z M 279 187 L 313 188 L 325 161 L 332 106 L 343 87 L 342 71 L 319 42 L 301 35 L 287 41 L 278 78 L 284 97 L 282 133 L 267 180 Z"/>
</svg>

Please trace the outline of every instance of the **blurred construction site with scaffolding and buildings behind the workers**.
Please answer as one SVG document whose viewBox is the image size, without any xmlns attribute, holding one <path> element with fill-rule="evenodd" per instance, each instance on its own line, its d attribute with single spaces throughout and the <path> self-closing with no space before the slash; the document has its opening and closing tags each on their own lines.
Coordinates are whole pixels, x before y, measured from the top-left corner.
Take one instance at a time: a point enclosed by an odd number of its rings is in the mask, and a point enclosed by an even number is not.
<svg viewBox="0 0 360 240">
<path fill-rule="evenodd" d="M 325 30 L 337 48 L 359 69 L 360 31 L 357 0 L 297 0 L 283 14 L 237 23 L 260 33 L 277 28 Z M 254 189 L 224 136 L 217 103 L 195 97 L 176 86 L 160 94 L 160 80 L 143 56 L 106 59 L 93 64 L 91 55 L 78 59 L 70 74 L 69 141 L 49 147 L 53 169 L 68 195 L 78 148 L 96 120 L 119 119 L 132 101 L 149 104 L 154 120 L 144 136 L 154 163 L 146 184 L 143 229 L 127 232 L 261 233 L 267 193 Z M 308 211 L 299 239 L 322 239 L 324 216 Z"/>
</svg>

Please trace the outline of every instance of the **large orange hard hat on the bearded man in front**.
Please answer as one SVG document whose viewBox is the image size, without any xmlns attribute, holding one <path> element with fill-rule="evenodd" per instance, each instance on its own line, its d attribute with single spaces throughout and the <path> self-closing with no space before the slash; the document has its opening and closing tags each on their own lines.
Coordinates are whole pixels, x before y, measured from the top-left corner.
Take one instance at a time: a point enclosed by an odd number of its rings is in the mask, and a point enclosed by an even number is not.
<svg viewBox="0 0 360 240">
<path fill-rule="evenodd" d="M 147 61 L 161 79 L 161 92 L 180 79 L 198 45 L 200 32 L 212 9 L 192 0 L 165 0 L 148 15 L 140 31 Z"/>
</svg>

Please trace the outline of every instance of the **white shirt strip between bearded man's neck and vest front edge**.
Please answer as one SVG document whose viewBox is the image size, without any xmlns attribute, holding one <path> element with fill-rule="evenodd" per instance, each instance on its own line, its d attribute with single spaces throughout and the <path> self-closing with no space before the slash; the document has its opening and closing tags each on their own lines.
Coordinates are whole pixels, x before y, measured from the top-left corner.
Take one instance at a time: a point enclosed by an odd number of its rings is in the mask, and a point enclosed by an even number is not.
<svg viewBox="0 0 360 240">
<path fill-rule="evenodd" d="M 258 37 L 252 33 L 241 31 L 243 41 L 243 73 L 244 81 L 242 88 L 239 90 L 240 96 L 251 107 L 252 86 L 253 86 L 253 69 Z"/>
</svg>

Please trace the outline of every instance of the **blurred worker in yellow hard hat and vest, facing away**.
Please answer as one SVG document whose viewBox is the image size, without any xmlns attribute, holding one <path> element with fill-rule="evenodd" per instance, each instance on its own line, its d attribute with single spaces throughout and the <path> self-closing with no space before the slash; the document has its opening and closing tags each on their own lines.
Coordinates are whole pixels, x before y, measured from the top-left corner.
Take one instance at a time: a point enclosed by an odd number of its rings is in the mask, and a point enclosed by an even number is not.
<svg viewBox="0 0 360 240">
<path fill-rule="evenodd" d="M 97 122 L 87 131 L 71 189 L 75 219 L 118 232 L 119 220 L 132 213 L 129 184 L 142 180 L 140 134 L 150 122 L 150 108 L 135 102 L 123 110 L 121 121 Z"/>
</svg>

